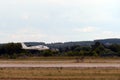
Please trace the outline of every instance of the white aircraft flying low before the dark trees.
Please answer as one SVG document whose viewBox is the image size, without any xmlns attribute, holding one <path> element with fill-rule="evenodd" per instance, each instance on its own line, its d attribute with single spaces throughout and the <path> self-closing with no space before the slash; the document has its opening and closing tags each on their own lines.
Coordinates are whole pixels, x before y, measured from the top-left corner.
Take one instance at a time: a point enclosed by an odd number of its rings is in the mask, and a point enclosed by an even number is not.
<svg viewBox="0 0 120 80">
<path fill-rule="evenodd" d="M 24 43 L 21 43 L 22 49 L 27 49 L 27 50 L 48 50 L 49 47 L 44 46 L 44 45 L 37 45 L 37 46 L 30 46 L 27 47 Z"/>
</svg>

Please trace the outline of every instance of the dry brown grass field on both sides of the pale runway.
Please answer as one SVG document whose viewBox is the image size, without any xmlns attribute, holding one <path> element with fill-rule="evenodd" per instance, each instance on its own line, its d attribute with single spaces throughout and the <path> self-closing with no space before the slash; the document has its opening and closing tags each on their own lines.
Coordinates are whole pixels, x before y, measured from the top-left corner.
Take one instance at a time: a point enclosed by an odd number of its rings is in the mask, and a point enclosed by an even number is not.
<svg viewBox="0 0 120 80">
<path fill-rule="evenodd" d="M 2 64 L 76 63 L 75 57 L 0 59 Z M 80 63 L 117 63 L 120 58 L 86 57 Z M 0 68 L 0 80 L 120 80 L 120 68 Z"/>
</svg>

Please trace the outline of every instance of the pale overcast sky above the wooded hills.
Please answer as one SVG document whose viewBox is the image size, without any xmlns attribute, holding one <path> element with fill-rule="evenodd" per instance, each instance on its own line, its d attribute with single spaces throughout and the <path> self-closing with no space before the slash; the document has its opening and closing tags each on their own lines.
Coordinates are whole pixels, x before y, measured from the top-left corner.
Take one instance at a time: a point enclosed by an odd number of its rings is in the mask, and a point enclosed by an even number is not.
<svg viewBox="0 0 120 80">
<path fill-rule="evenodd" d="M 120 38 L 120 0 L 0 0 L 0 43 Z"/>
</svg>

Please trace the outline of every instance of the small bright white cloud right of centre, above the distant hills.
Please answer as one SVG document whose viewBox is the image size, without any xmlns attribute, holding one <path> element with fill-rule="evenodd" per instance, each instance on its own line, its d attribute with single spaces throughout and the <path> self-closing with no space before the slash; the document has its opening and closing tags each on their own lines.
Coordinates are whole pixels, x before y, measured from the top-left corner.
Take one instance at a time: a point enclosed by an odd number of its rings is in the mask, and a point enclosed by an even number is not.
<svg viewBox="0 0 120 80">
<path fill-rule="evenodd" d="M 85 33 L 87 33 L 87 32 L 94 32 L 96 30 L 97 30 L 97 28 L 96 27 L 92 27 L 92 26 L 74 29 L 74 31 L 85 32 Z"/>
</svg>

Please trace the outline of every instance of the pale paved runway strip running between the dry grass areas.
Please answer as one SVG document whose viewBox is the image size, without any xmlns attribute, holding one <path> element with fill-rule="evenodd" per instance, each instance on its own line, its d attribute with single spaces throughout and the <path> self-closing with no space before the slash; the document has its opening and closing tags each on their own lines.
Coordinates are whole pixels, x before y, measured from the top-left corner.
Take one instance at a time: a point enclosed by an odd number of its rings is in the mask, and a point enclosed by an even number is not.
<svg viewBox="0 0 120 80">
<path fill-rule="evenodd" d="M 0 64 L 0 67 L 40 67 L 40 68 L 120 68 L 117 63 L 72 63 L 72 64 Z"/>
</svg>

